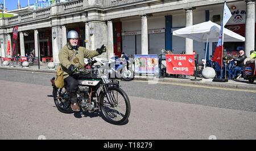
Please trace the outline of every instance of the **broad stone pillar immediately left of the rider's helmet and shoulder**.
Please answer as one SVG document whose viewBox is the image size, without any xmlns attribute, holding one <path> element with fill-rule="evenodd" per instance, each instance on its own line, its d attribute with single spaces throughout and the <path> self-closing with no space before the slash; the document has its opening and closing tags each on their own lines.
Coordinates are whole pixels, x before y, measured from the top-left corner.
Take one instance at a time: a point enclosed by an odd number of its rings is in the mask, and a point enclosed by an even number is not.
<svg viewBox="0 0 256 151">
<path fill-rule="evenodd" d="M 53 36 L 56 37 L 53 37 Z M 59 65 L 59 52 L 62 49 L 62 30 L 61 26 L 52 27 L 52 57 L 55 65 Z"/>
</svg>

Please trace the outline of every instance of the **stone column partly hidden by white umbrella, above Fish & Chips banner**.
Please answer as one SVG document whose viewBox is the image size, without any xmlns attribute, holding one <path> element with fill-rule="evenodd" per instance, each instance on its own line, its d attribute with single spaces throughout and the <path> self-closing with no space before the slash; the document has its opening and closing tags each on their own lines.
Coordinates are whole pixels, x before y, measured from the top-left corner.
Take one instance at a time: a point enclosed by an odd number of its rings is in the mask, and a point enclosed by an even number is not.
<svg viewBox="0 0 256 151">
<path fill-rule="evenodd" d="M 192 8 L 185 9 L 186 11 L 186 27 L 193 25 L 193 12 Z M 185 54 L 193 54 L 193 40 L 185 39 Z"/>
</svg>

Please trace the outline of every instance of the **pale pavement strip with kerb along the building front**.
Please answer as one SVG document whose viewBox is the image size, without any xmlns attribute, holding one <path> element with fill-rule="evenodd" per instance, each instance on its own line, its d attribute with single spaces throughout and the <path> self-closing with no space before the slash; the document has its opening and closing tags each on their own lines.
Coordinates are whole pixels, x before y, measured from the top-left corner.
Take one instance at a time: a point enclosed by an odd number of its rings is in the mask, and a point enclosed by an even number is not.
<svg viewBox="0 0 256 151">
<path fill-rule="evenodd" d="M 28 72 L 44 72 L 44 73 L 56 73 L 58 66 L 55 66 L 55 69 L 49 69 L 47 64 L 40 64 L 40 69 L 38 65 L 30 65 L 28 68 L 24 68 L 20 65 L 15 65 L 15 67 L 3 66 L 0 65 L 0 69 L 9 69 L 9 70 L 24 70 Z M 195 80 L 196 79 L 196 80 Z M 248 80 L 243 78 L 239 79 L 229 79 L 228 82 L 213 82 L 213 79 L 201 78 L 200 75 L 195 78 L 195 76 L 187 75 L 186 77 L 160 77 L 155 78 L 150 75 L 141 76 L 135 75 L 135 81 L 148 81 L 152 83 L 180 83 L 184 85 L 199 85 L 199 86 L 210 86 L 210 87 L 225 87 L 232 89 L 243 89 L 243 90 L 256 90 L 256 81 L 250 83 Z"/>
</svg>

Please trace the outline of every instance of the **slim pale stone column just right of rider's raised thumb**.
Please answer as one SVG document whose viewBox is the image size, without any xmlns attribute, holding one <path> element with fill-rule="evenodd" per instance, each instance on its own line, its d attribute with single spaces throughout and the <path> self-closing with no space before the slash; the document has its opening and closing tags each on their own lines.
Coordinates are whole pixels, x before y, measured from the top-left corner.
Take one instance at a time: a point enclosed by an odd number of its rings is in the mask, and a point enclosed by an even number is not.
<svg viewBox="0 0 256 151">
<path fill-rule="evenodd" d="M 114 56 L 113 24 L 108 20 L 108 60 Z"/>
</svg>

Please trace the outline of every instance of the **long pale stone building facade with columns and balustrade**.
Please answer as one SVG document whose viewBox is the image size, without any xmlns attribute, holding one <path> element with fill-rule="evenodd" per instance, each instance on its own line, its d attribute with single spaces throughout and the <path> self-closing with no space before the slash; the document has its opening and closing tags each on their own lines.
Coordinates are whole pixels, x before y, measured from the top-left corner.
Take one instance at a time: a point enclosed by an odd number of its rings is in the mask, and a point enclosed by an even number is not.
<svg viewBox="0 0 256 151">
<path fill-rule="evenodd" d="M 246 41 L 225 43 L 224 49 L 226 52 L 245 49 L 248 56 L 255 49 L 255 1 L 226 2 L 233 15 L 225 27 L 245 36 Z M 108 52 L 101 55 L 104 58 L 120 55 L 122 51 L 160 54 L 166 49 L 187 54 L 195 51 L 201 59 L 204 58 L 205 43 L 173 36 L 172 32 L 208 20 L 221 24 L 223 7 L 221 0 L 75 0 L 56 3 L 45 9 L 0 19 L 0 54 L 6 56 L 7 41 L 11 41 L 13 28 L 19 26 L 18 52 L 21 56 L 34 52 L 36 56 L 53 57 L 56 64 L 70 30 L 79 32 L 80 45 L 90 50 L 106 45 Z M 215 47 L 216 43 L 209 43 L 208 58 Z"/>
</svg>

